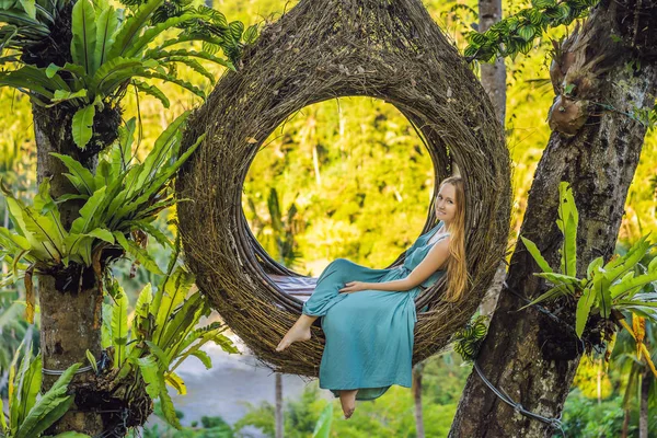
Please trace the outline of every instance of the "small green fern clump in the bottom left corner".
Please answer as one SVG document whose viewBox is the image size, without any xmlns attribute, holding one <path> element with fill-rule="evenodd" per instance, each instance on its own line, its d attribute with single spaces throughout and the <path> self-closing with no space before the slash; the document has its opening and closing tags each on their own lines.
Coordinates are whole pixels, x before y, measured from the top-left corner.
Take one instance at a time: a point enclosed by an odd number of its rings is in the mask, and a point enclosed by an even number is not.
<svg viewBox="0 0 657 438">
<path fill-rule="evenodd" d="M 22 346 L 22 345 L 21 345 Z M 57 422 L 73 402 L 67 388 L 80 364 L 69 367 L 45 394 L 41 394 L 41 355 L 32 357 L 26 344 L 21 365 L 16 369 L 21 348 L 14 355 L 9 371 L 9 417 L 5 418 L 0 399 L 0 436 L 7 438 L 37 438 Z M 68 434 L 68 435 L 67 435 Z M 87 435 L 59 434 L 58 438 L 84 438 Z"/>
</svg>

